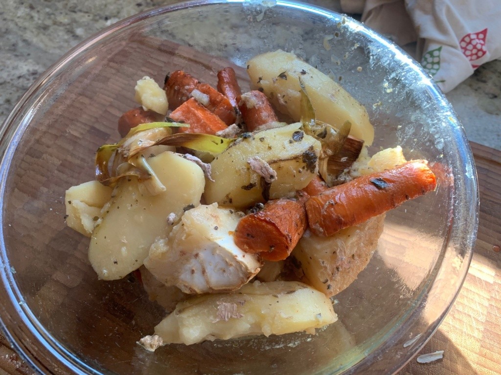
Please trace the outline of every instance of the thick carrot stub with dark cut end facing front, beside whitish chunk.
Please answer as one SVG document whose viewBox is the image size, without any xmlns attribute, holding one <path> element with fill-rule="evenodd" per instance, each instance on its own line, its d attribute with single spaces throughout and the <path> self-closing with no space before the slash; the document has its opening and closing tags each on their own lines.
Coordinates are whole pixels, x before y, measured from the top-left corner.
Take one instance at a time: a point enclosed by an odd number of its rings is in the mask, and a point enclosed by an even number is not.
<svg viewBox="0 0 501 375">
<path fill-rule="evenodd" d="M 261 211 L 242 217 L 235 229 L 235 244 L 266 260 L 285 259 L 308 226 L 307 198 L 299 191 L 297 198 L 269 200 Z"/>
</svg>

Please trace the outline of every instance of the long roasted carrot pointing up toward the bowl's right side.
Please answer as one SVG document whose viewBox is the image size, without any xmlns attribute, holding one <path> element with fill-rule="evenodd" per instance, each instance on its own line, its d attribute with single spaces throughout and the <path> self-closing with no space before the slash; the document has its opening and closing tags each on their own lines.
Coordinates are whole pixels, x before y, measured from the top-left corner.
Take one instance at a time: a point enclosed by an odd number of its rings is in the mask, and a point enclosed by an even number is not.
<svg viewBox="0 0 501 375">
<path fill-rule="evenodd" d="M 306 201 L 310 228 L 317 235 L 332 235 L 435 187 L 435 175 L 426 160 L 413 160 L 393 169 L 358 177 Z"/>
</svg>

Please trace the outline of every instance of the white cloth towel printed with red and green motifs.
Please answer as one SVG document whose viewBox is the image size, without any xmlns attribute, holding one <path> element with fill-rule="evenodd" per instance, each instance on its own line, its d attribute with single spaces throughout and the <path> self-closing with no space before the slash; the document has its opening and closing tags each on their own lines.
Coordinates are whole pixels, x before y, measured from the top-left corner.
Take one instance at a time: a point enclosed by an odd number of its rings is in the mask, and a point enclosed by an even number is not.
<svg viewBox="0 0 501 375">
<path fill-rule="evenodd" d="M 341 0 L 341 7 L 397 44 L 417 41 L 415 57 L 444 92 L 501 58 L 500 0 Z"/>
</svg>

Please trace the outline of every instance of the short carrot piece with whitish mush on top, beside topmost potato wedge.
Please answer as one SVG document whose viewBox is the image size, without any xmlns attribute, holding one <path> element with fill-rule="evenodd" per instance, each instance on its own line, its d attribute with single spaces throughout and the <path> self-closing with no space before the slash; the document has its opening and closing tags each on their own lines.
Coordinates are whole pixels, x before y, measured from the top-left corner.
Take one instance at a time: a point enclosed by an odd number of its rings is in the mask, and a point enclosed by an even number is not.
<svg viewBox="0 0 501 375">
<path fill-rule="evenodd" d="M 265 123 L 278 121 L 278 117 L 266 95 L 257 90 L 245 92 L 238 97 L 238 109 L 247 131 L 253 131 Z"/>
</svg>

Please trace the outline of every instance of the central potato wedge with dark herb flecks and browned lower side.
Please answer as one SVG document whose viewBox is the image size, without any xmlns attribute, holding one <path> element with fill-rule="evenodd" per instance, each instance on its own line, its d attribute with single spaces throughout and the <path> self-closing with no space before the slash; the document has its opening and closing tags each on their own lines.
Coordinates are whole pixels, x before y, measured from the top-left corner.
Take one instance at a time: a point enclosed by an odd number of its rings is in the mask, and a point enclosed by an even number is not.
<svg viewBox="0 0 501 375">
<path fill-rule="evenodd" d="M 207 203 L 245 208 L 265 201 L 262 177 L 248 162 L 253 156 L 259 156 L 277 172 L 270 198 L 288 196 L 305 187 L 317 172 L 321 144 L 300 127 L 301 124 L 294 123 L 259 131 L 221 152 L 210 163 L 214 182 L 206 181 Z M 293 138 L 294 133 L 299 136 Z"/>
</svg>

